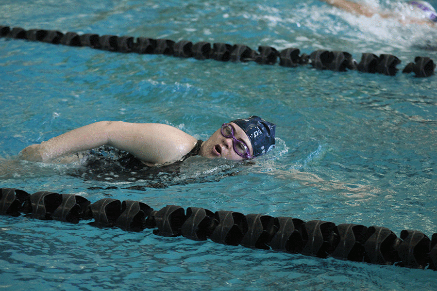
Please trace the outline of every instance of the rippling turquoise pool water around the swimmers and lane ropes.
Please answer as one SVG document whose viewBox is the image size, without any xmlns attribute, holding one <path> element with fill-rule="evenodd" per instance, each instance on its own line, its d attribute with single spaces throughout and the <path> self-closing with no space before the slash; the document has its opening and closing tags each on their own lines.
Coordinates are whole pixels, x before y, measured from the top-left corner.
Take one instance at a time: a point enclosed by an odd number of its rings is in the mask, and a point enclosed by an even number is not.
<svg viewBox="0 0 437 291">
<path fill-rule="evenodd" d="M 433 1 L 434 6 L 437 2 Z M 381 5 L 388 7 L 386 2 Z M 401 6 L 392 3 L 392 7 Z M 0 23 L 24 29 L 389 53 L 402 69 L 434 32 L 301 1 L 10 1 Z M 244 214 L 437 230 L 436 76 L 394 77 L 255 63 L 119 54 L 0 39 L 1 187 L 113 197 Z M 19 151 L 98 120 L 160 122 L 207 139 L 256 114 L 277 147 L 253 165 L 187 161 L 167 188 L 68 175 Z M 236 175 L 234 175 L 236 174 Z M 228 177 L 230 176 L 230 177 Z M 205 182 L 207 181 L 207 182 Z M 92 190 L 95 187 L 115 189 Z M 90 189 L 92 188 L 92 189 Z M 100 229 L 0 216 L 2 290 L 433 290 L 437 273 L 317 259 L 151 230 Z"/>
</svg>

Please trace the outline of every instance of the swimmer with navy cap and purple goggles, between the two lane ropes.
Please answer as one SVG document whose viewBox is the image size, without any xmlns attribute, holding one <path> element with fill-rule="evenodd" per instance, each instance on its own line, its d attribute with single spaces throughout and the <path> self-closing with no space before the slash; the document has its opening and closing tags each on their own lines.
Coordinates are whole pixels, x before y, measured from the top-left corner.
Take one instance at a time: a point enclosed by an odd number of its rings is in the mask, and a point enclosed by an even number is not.
<svg viewBox="0 0 437 291">
<path fill-rule="evenodd" d="M 258 116 L 224 123 L 203 142 L 166 124 L 100 121 L 24 148 L 20 159 L 50 162 L 56 158 L 112 146 L 147 166 L 181 161 L 189 156 L 240 161 L 267 153 L 275 145 L 276 126 Z"/>
</svg>

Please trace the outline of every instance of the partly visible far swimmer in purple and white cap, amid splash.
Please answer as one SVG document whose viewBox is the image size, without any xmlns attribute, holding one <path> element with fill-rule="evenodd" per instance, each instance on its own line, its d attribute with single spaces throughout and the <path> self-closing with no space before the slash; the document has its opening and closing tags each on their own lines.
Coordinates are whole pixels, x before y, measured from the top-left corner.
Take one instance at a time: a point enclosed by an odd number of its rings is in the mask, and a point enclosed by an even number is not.
<svg viewBox="0 0 437 291">
<path fill-rule="evenodd" d="M 382 18 L 397 18 L 401 23 L 418 23 L 427 24 L 429 26 L 435 27 L 437 22 L 437 12 L 434 7 L 426 1 L 409 1 L 408 4 L 415 9 L 417 12 L 417 17 L 403 17 L 400 15 L 392 13 L 384 13 L 372 8 L 366 4 L 355 3 L 348 0 L 321 0 L 337 8 L 341 8 L 347 12 L 354 15 L 364 15 L 367 17 L 372 17 L 378 14 Z"/>
</svg>

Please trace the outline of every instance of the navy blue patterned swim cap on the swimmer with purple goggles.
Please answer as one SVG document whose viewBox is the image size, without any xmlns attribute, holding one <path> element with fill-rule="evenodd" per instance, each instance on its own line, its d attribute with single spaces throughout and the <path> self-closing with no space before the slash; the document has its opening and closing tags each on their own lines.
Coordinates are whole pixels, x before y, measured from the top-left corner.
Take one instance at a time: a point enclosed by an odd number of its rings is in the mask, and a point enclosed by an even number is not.
<svg viewBox="0 0 437 291">
<path fill-rule="evenodd" d="M 275 146 L 276 125 L 273 123 L 255 115 L 231 122 L 234 122 L 246 132 L 252 144 L 254 157 L 264 155 Z"/>
</svg>

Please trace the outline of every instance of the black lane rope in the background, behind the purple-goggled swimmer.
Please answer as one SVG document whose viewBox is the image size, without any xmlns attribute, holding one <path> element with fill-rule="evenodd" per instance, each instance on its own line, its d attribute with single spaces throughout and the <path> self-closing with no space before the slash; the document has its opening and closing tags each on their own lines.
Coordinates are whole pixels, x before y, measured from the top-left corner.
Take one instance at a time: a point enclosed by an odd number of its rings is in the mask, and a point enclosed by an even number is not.
<svg viewBox="0 0 437 291">
<path fill-rule="evenodd" d="M 99 35 L 94 33 L 78 34 L 76 32 L 59 32 L 43 29 L 25 30 L 21 27 L 0 25 L 0 37 L 41 41 L 73 47 L 90 47 L 121 53 L 163 54 L 180 58 L 196 58 L 198 60 L 213 59 L 221 62 L 256 62 L 260 65 L 279 65 L 297 67 L 307 65 L 319 70 L 347 71 L 357 70 L 364 73 L 379 73 L 395 76 L 401 60 L 390 54 L 379 56 L 363 53 L 357 63 L 352 55 L 345 51 L 329 51 L 319 49 L 309 55 L 300 54 L 300 49 L 287 48 L 281 51 L 269 46 L 259 46 L 258 51 L 246 45 L 227 43 L 198 42 L 188 40 L 175 42 L 169 39 L 153 39 L 147 37 Z M 429 57 L 417 56 L 414 62 L 408 63 L 403 73 L 414 73 L 415 77 L 434 75 L 436 64 Z"/>
</svg>

